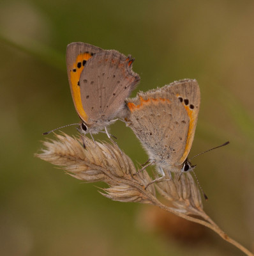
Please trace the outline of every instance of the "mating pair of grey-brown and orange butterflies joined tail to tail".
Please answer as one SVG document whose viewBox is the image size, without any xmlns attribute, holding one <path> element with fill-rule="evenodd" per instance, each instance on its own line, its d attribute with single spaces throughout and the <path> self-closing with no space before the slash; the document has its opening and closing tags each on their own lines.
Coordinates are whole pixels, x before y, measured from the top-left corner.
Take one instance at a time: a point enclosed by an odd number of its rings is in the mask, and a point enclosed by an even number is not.
<svg viewBox="0 0 254 256">
<path fill-rule="evenodd" d="M 66 62 L 71 95 L 80 129 L 98 133 L 118 118 L 124 119 L 155 163 L 160 178 L 169 172 L 193 169 L 188 154 L 200 106 L 195 79 L 184 79 L 162 88 L 140 92 L 127 99 L 140 77 L 133 72 L 131 56 L 81 42 L 67 46 Z M 93 136 L 92 136 L 93 137 Z"/>
</svg>

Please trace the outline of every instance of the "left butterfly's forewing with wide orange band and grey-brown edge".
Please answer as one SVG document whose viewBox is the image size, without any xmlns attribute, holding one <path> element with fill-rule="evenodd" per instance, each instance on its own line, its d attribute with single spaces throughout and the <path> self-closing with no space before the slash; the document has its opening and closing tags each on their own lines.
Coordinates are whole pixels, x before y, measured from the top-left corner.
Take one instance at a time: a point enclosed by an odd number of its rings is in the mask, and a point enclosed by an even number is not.
<svg viewBox="0 0 254 256">
<path fill-rule="evenodd" d="M 80 118 L 87 122 L 87 113 L 84 111 L 80 97 L 80 74 L 86 68 L 86 61 L 104 50 L 82 42 L 75 42 L 67 45 L 66 50 L 66 65 L 68 80 L 71 88 L 71 95 L 75 109 Z M 84 70 L 86 72 L 86 70 Z"/>
</svg>

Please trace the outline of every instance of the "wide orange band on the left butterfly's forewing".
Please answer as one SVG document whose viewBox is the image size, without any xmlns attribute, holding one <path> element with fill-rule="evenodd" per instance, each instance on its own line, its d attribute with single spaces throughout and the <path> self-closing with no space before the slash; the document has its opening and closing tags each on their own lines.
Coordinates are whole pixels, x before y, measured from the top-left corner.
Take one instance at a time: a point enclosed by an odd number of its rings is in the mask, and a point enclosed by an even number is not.
<svg viewBox="0 0 254 256">
<path fill-rule="evenodd" d="M 86 65 L 86 61 L 89 60 L 91 57 L 92 55 L 87 52 L 79 54 L 77 56 L 75 63 L 73 63 L 72 69 L 68 70 L 70 72 L 71 95 L 73 98 L 73 102 L 78 115 L 85 122 L 87 121 L 87 115 L 82 106 L 82 101 L 80 96 L 80 86 L 78 84 L 80 83 L 79 81 L 80 74 L 84 69 L 84 65 Z"/>
</svg>

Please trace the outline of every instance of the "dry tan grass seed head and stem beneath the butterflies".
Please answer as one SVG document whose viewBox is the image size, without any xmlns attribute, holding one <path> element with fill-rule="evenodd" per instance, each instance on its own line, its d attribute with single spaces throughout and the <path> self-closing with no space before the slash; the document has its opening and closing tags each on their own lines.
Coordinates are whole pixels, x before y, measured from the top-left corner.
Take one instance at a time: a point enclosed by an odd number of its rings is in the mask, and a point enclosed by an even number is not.
<svg viewBox="0 0 254 256">
<path fill-rule="evenodd" d="M 202 200 L 197 184 L 190 173 L 185 173 L 179 180 L 175 173 L 171 180 L 158 182 L 155 187 L 172 207 L 162 204 L 156 198 L 154 184 L 146 170 L 137 175 L 130 157 L 126 156 L 116 144 L 99 143 L 85 137 L 86 149 L 82 140 L 66 134 L 57 135 L 57 140 L 44 141 L 44 149 L 37 157 L 60 166 L 72 177 L 86 182 L 103 181 L 108 188 L 100 192 L 103 196 L 120 202 L 140 202 L 153 204 L 165 211 L 172 212 L 186 220 L 200 223 L 211 228 L 223 239 L 234 244 L 246 255 L 253 254 L 241 244 L 227 236 L 202 209 Z M 168 177 L 169 178 L 169 177 Z M 191 214 L 191 216 L 190 216 Z"/>
</svg>

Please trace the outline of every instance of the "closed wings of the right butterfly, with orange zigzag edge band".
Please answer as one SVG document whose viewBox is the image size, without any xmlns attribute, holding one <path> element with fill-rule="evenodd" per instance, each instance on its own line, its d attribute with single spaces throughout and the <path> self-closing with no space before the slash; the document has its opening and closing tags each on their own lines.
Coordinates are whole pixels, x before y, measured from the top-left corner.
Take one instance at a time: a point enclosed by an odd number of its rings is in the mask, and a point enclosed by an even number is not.
<svg viewBox="0 0 254 256">
<path fill-rule="evenodd" d="M 196 80 L 177 81 L 126 100 L 130 127 L 151 159 L 179 166 L 190 152 L 200 107 Z"/>
</svg>

